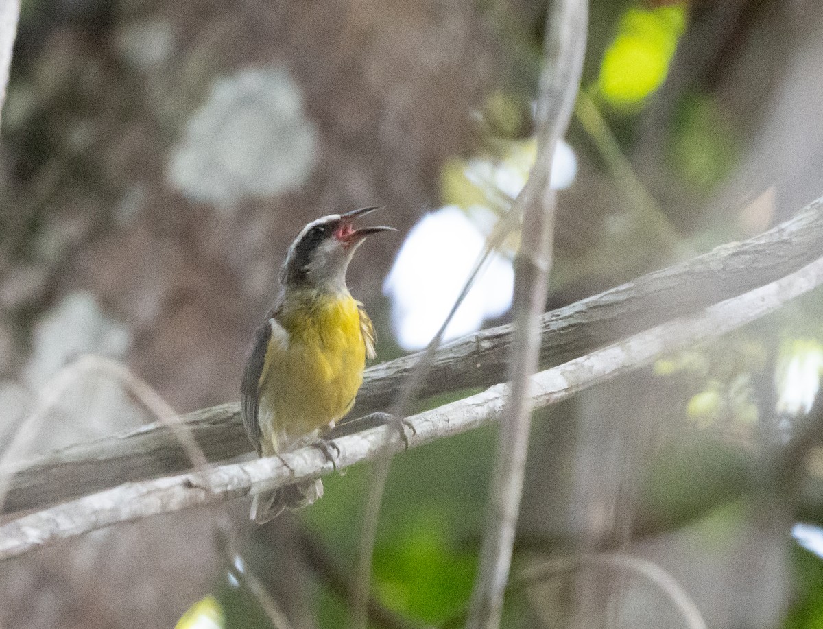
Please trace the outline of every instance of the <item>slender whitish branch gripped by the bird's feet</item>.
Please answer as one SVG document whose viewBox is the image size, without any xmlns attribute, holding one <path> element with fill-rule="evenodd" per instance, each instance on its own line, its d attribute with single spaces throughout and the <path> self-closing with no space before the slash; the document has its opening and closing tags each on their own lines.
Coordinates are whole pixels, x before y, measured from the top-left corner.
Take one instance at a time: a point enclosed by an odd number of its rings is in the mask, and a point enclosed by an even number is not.
<svg viewBox="0 0 823 629">
<path fill-rule="evenodd" d="M 709 306 L 532 377 L 530 402 L 544 407 L 610 380 L 660 356 L 717 338 L 732 329 L 778 310 L 787 301 L 823 282 L 823 259 L 745 295 Z M 481 394 L 409 417 L 415 434 L 412 447 L 457 435 L 500 419 L 509 387 L 498 384 Z M 335 440 L 337 468 L 403 450 L 393 426 L 379 426 Z M 332 472 L 332 463 L 317 448 L 282 457 L 226 464 L 198 473 L 132 482 L 85 496 L 0 527 L 0 560 L 18 557 L 59 539 L 74 538 L 120 522 L 141 520 L 193 506 L 216 504 L 249 492 L 284 487 Z"/>
</svg>

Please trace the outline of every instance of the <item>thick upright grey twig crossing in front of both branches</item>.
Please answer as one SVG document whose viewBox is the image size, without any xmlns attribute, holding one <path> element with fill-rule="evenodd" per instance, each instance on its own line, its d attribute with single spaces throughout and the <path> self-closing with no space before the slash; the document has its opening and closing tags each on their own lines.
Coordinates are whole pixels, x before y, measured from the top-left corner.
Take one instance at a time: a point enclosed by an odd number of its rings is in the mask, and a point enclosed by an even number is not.
<svg viewBox="0 0 823 629">
<path fill-rule="evenodd" d="M 551 267 L 555 204 L 549 185 L 551 161 L 556 143 L 569 125 L 579 89 L 587 22 L 584 0 L 556 0 L 546 16 L 538 158 L 516 203 L 523 207 L 523 230 L 515 259 L 512 384 L 491 474 L 486 529 L 467 622 L 472 629 L 500 626 L 509 580 L 532 417 L 528 389 L 540 356 L 540 316 L 546 305 Z"/>
</svg>

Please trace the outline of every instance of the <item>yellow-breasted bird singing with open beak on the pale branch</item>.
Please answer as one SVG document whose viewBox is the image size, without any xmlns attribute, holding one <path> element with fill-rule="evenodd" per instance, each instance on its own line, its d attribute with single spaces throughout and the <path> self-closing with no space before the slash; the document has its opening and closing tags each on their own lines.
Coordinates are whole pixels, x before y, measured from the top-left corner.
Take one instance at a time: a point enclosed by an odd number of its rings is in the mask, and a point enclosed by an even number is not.
<svg viewBox="0 0 823 629">
<path fill-rule="evenodd" d="M 346 286 L 346 270 L 367 236 L 396 231 L 355 229 L 356 219 L 377 209 L 312 221 L 286 254 L 280 292 L 254 333 L 240 387 L 243 423 L 258 456 L 322 445 L 320 436 L 354 406 L 377 338 L 365 307 Z M 320 496 L 319 478 L 258 492 L 250 519 L 263 524 Z"/>
</svg>

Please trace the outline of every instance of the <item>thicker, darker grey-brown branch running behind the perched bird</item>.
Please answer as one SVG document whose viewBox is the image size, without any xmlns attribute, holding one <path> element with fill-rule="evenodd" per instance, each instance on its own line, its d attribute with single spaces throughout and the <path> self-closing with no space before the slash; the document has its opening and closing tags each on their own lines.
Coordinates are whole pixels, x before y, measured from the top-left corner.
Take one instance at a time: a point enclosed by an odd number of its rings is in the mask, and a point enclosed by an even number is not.
<svg viewBox="0 0 823 629">
<path fill-rule="evenodd" d="M 821 209 L 823 198 L 805 207 L 797 217 L 751 240 L 723 245 L 544 314 L 542 369 L 797 271 L 823 250 Z M 511 342 L 512 326 L 503 325 L 441 347 L 435 353 L 422 394 L 489 386 L 504 380 Z M 418 360 L 419 354 L 411 354 L 366 370 L 352 416 L 386 408 Z M 210 461 L 252 450 L 237 404 L 193 412 L 183 421 Z M 157 424 L 142 426 L 137 431 L 32 459 L 12 482 L 5 510 L 38 508 L 189 466 L 174 431 Z"/>
</svg>

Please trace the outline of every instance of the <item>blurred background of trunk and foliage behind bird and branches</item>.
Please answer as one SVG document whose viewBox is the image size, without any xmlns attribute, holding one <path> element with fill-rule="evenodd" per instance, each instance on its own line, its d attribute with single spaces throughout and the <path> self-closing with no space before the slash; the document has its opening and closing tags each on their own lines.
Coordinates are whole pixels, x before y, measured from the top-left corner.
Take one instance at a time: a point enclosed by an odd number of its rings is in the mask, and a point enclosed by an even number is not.
<svg viewBox="0 0 823 629">
<path fill-rule="evenodd" d="M 178 412 L 236 401 L 291 240 L 354 207 L 384 206 L 400 230 L 349 273 L 378 360 L 425 346 L 534 159 L 545 13 L 540 0 L 24 0 L 0 130 L 0 443 L 87 353 L 122 361 Z M 821 60 L 816 0 L 591 0 L 552 166 L 547 309 L 820 196 Z M 509 321 L 516 248 L 514 235 L 449 338 Z M 677 503 L 730 445 L 773 445 L 809 411 L 821 306 L 812 294 L 538 412 L 515 571 L 569 552 L 570 535 L 609 534 L 673 575 L 709 627 L 823 627 L 814 522 L 775 524 L 768 501 L 735 499 L 631 533 L 649 500 Z M 85 379 L 38 452 L 153 419 L 117 382 Z M 391 617 L 375 627 L 439 626 L 464 608 L 495 436 L 394 461 L 373 583 Z M 230 503 L 244 538 L 231 569 L 207 509 L 8 561 L 0 626 L 268 627 L 244 570 L 294 627 L 349 626 L 330 575 L 356 563 L 367 471 L 260 528 Z M 602 566 L 514 593 L 504 613 L 505 627 L 684 622 L 653 583 Z"/>
</svg>

